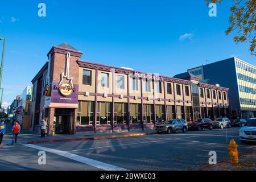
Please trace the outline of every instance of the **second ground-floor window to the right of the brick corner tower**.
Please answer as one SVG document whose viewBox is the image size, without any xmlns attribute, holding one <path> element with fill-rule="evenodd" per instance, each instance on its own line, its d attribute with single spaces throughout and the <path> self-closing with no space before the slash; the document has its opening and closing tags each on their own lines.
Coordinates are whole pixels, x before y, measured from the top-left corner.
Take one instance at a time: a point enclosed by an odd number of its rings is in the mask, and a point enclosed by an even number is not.
<svg viewBox="0 0 256 182">
<path fill-rule="evenodd" d="M 110 125 L 111 102 L 97 102 L 97 125 Z"/>
</svg>

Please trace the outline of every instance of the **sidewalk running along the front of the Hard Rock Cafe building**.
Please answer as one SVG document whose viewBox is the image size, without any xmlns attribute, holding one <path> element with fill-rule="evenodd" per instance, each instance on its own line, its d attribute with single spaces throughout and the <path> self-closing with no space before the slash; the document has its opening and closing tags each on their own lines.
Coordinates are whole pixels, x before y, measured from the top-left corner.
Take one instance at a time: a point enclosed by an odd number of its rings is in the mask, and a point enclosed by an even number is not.
<svg viewBox="0 0 256 182">
<path fill-rule="evenodd" d="M 7 127 L 8 128 L 8 127 Z M 8 132 L 8 131 L 7 131 Z M 39 134 L 22 130 L 21 134 L 18 135 L 18 144 L 28 143 L 47 143 L 47 142 L 71 142 L 78 140 L 98 140 L 98 139 L 110 139 L 110 138 L 121 138 L 121 137 L 138 137 L 142 135 L 155 134 L 155 130 L 144 130 L 144 131 L 130 131 L 121 133 L 96 133 L 96 134 L 55 134 L 52 137 L 41 138 Z M 3 139 L 3 144 L 11 144 L 13 135 L 9 132 Z"/>
</svg>

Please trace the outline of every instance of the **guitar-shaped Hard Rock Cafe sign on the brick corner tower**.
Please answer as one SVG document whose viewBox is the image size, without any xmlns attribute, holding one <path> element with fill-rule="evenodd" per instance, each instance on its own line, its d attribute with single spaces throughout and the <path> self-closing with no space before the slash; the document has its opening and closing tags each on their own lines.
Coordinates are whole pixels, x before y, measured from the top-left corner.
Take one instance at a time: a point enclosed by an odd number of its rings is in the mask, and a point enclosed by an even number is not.
<svg viewBox="0 0 256 182">
<path fill-rule="evenodd" d="M 69 77 L 69 60 L 70 60 L 70 53 L 68 52 L 66 55 L 66 68 L 65 72 L 60 74 L 60 82 L 58 85 L 54 85 L 53 88 L 59 90 L 62 96 L 70 96 L 72 92 L 76 91 L 76 88 L 73 85 L 73 78 Z M 64 81 L 68 81 L 65 82 Z"/>
</svg>

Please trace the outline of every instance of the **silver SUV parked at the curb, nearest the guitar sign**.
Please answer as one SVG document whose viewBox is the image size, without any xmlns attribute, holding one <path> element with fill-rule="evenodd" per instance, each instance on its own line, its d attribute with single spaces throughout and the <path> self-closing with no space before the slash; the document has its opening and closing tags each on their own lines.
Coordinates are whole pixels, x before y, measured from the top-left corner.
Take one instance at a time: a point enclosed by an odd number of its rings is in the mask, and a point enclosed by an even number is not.
<svg viewBox="0 0 256 182">
<path fill-rule="evenodd" d="M 167 132 L 168 134 L 172 134 L 174 131 L 182 131 L 183 133 L 186 133 L 188 125 L 184 119 L 171 119 L 164 121 L 160 125 L 156 125 L 155 130 L 158 133 Z"/>
</svg>

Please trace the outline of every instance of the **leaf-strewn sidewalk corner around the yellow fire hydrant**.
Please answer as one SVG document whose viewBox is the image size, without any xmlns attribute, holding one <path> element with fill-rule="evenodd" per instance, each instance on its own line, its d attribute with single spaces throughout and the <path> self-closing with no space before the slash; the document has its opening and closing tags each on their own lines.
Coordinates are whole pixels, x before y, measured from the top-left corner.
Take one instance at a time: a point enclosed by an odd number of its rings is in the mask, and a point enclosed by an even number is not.
<svg viewBox="0 0 256 182">
<path fill-rule="evenodd" d="M 256 151 L 239 156 L 238 164 L 231 164 L 230 160 L 204 169 L 205 171 L 256 171 Z"/>
</svg>

